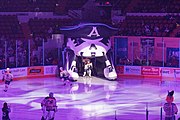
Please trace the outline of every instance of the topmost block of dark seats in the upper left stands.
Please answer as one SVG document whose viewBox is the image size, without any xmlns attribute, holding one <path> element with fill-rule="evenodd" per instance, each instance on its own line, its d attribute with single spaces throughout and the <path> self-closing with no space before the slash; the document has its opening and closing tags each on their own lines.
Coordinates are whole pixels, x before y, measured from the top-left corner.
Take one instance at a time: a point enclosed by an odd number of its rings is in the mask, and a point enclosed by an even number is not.
<svg viewBox="0 0 180 120">
<path fill-rule="evenodd" d="M 0 12 L 53 12 L 65 14 L 81 8 L 87 0 L 1 0 Z"/>
</svg>

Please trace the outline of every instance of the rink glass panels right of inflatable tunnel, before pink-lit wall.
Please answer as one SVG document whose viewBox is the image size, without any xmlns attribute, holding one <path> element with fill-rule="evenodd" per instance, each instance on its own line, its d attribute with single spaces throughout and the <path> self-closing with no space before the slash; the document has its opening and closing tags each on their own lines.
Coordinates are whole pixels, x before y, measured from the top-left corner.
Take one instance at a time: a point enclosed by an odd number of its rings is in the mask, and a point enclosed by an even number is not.
<svg viewBox="0 0 180 120">
<path fill-rule="evenodd" d="M 180 67 L 180 38 L 114 37 L 116 65 Z"/>
</svg>

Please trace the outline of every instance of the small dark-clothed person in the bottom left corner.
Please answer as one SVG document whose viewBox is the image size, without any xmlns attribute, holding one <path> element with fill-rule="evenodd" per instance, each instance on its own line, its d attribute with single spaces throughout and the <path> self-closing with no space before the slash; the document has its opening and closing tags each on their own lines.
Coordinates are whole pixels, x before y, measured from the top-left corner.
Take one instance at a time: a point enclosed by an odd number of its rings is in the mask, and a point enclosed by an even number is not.
<svg viewBox="0 0 180 120">
<path fill-rule="evenodd" d="M 8 104 L 5 102 L 3 104 L 3 108 L 2 108 L 2 120 L 10 120 L 10 118 L 9 118 L 10 112 L 11 112 L 11 109 L 8 106 Z"/>
</svg>

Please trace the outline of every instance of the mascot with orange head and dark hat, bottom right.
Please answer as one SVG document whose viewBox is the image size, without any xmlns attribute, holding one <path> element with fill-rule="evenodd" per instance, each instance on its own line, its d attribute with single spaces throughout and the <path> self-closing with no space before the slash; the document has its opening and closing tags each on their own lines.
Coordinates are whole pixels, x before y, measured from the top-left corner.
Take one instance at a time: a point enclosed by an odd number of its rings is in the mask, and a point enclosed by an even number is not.
<svg viewBox="0 0 180 120">
<path fill-rule="evenodd" d="M 164 112 L 165 112 L 165 120 L 175 120 L 175 114 L 178 112 L 178 108 L 174 101 L 173 97 L 174 91 L 169 92 L 166 97 L 166 103 L 163 106 Z"/>
</svg>

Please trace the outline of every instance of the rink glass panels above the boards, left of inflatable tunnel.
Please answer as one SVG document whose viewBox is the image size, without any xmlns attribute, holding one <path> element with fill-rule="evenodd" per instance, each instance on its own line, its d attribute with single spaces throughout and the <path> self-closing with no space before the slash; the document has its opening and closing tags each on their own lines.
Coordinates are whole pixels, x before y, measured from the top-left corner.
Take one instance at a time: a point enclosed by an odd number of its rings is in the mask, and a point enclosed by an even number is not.
<svg viewBox="0 0 180 120">
<path fill-rule="evenodd" d="M 0 46 L 0 69 L 57 65 L 62 58 L 62 45 L 52 39 L 44 40 L 39 37 L 32 40 L 10 40 L 6 38 L 0 40 Z"/>
</svg>

